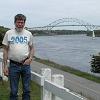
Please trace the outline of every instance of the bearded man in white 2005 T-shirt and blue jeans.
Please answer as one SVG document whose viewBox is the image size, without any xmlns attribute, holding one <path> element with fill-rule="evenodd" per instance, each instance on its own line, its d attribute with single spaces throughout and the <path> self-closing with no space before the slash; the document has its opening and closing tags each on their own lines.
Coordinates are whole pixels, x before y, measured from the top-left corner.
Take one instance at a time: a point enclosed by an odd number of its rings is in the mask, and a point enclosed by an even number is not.
<svg viewBox="0 0 100 100">
<path fill-rule="evenodd" d="M 26 17 L 17 14 L 14 18 L 15 28 L 6 32 L 2 44 L 4 75 L 10 80 L 10 100 L 18 100 L 18 83 L 22 78 L 22 100 L 30 100 L 30 63 L 34 55 L 33 37 L 24 29 Z M 9 69 L 7 60 L 9 59 Z"/>
</svg>

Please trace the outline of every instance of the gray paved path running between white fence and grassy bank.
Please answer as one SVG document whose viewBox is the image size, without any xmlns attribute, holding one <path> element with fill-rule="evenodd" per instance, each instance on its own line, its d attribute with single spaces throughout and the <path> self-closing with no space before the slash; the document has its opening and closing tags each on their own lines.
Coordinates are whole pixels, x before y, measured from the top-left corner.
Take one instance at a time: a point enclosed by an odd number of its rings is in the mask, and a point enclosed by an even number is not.
<svg viewBox="0 0 100 100">
<path fill-rule="evenodd" d="M 41 73 L 41 68 L 51 68 L 52 74 L 63 74 L 64 75 L 64 82 L 65 87 L 82 94 L 85 97 L 88 97 L 89 100 L 100 100 L 100 84 L 89 81 L 87 79 L 78 77 L 76 75 L 61 71 L 59 69 L 52 68 L 50 66 L 38 63 L 33 61 L 32 62 L 32 71 Z"/>
</svg>

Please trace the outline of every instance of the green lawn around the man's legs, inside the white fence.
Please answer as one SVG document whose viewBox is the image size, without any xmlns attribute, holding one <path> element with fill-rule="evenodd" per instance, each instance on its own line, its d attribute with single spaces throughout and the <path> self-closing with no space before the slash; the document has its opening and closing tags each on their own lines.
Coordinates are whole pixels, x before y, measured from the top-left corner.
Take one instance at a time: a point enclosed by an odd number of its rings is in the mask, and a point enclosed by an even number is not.
<svg viewBox="0 0 100 100">
<path fill-rule="evenodd" d="M 22 100 L 22 85 L 19 83 L 18 100 Z M 8 100 L 10 93 L 9 82 L 0 81 L 0 100 Z M 31 81 L 31 100 L 41 100 L 41 87 Z"/>
</svg>

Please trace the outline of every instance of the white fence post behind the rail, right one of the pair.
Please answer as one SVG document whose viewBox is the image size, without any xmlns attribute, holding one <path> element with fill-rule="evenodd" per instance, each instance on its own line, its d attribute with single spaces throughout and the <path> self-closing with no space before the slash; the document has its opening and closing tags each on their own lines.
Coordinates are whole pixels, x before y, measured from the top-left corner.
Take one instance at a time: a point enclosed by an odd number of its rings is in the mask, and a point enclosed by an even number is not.
<svg viewBox="0 0 100 100">
<path fill-rule="evenodd" d="M 64 87 L 64 76 L 61 74 L 54 74 L 52 75 L 52 82 Z M 62 99 L 52 94 L 52 100 L 62 100 Z"/>
</svg>

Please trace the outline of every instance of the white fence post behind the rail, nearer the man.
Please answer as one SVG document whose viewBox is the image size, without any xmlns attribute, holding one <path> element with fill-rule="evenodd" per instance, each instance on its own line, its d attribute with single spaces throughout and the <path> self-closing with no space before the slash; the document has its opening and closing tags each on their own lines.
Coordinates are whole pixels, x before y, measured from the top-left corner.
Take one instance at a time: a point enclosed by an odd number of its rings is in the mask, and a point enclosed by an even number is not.
<svg viewBox="0 0 100 100">
<path fill-rule="evenodd" d="M 51 81 L 51 69 L 42 68 L 41 74 L 44 76 L 44 79 Z M 51 92 L 43 88 L 43 100 L 51 100 Z"/>
</svg>

